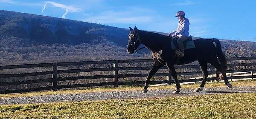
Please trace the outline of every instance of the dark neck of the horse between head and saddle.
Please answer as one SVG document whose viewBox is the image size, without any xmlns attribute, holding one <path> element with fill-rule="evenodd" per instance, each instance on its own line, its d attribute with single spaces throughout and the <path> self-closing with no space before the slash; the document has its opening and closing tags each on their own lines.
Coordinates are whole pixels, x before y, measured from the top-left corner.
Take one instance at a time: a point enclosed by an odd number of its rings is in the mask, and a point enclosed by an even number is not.
<svg viewBox="0 0 256 119">
<path fill-rule="evenodd" d="M 151 34 L 150 32 L 140 31 L 140 40 L 143 45 L 145 45 L 151 51 L 162 50 L 163 40 L 160 37 L 155 36 L 156 34 Z"/>
</svg>

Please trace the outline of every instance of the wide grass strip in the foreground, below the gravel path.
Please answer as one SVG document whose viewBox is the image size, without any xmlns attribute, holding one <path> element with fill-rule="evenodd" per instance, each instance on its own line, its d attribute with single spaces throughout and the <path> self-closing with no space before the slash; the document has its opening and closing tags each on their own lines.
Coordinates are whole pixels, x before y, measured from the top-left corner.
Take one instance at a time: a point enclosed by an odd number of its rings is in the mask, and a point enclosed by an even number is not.
<svg viewBox="0 0 256 119">
<path fill-rule="evenodd" d="M 256 93 L 0 106 L 0 119 L 256 119 Z"/>
</svg>

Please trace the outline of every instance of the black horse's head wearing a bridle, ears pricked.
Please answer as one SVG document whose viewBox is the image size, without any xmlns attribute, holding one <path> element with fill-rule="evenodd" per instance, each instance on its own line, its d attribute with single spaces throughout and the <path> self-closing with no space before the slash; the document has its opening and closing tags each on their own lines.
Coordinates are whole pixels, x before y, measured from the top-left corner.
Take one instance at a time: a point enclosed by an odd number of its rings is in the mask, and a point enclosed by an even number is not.
<svg viewBox="0 0 256 119">
<path fill-rule="evenodd" d="M 140 45 L 140 36 L 138 34 L 138 29 L 135 26 L 134 29 L 130 28 L 130 34 L 129 34 L 129 40 L 128 40 L 128 45 L 127 45 L 127 52 L 129 54 L 133 54 L 137 48 Z"/>
</svg>

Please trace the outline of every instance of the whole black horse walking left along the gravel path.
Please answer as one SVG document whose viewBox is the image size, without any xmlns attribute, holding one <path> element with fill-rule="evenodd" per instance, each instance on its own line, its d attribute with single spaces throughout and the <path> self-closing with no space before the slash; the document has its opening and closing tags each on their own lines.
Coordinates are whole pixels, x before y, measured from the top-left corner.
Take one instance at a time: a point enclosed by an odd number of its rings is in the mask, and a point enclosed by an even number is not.
<svg viewBox="0 0 256 119">
<path fill-rule="evenodd" d="M 207 77 L 209 75 L 207 71 L 208 62 L 221 72 L 224 77 L 225 85 L 232 89 L 232 85 L 228 82 L 226 76 L 227 61 L 221 51 L 221 43 L 218 39 L 200 38 L 194 40 L 196 48 L 185 50 L 184 57 L 181 57 L 179 62 L 176 63 L 174 61 L 176 61 L 177 55 L 175 54 L 175 50 L 172 50 L 171 48 L 172 37 L 147 31 L 141 31 L 138 30 L 137 27 L 134 29 L 131 27 L 129 28 L 130 34 L 127 52 L 129 54 L 133 54 L 138 50 L 138 46 L 142 43 L 152 52 L 152 56 L 155 62 L 153 68 L 148 73 L 148 77 L 145 81 L 142 93 L 146 93 L 148 91 L 148 84 L 151 77 L 164 65 L 167 65 L 169 71 L 171 71 L 172 77 L 175 79 L 176 88 L 173 94 L 179 93 L 180 83 L 177 79 L 174 65 L 188 64 L 190 62 L 194 62 L 195 60 L 198 60 L 199 65 L 201 66 L 203 80 L 200 87 L 196 88 L 194 92 L 202 91 L 204 88 L 205 82 L 207 81 Z"/>
</svg>

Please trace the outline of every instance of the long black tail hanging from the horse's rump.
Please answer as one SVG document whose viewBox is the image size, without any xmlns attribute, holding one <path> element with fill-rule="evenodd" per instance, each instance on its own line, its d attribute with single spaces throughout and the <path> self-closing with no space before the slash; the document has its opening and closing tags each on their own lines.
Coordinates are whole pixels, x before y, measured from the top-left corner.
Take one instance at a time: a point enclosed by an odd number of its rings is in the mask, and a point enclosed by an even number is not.
<svg viewBox="0 0 256 119">
<path fill-rule="evenodd" d="M 217 54 L 217 57 L 221 63 L 221 74 L 223 73 L 223 71 L 226 71 L 227 70 L 227 60 L 221 50 L 221 42 L 218 40 L 218 39 L 212 39 L 213 42 L 215 42 L 216 44 L 216 54 Z M 220 75 L 220 80 L 221 80 L 221 75 Z"/>
</svg>

